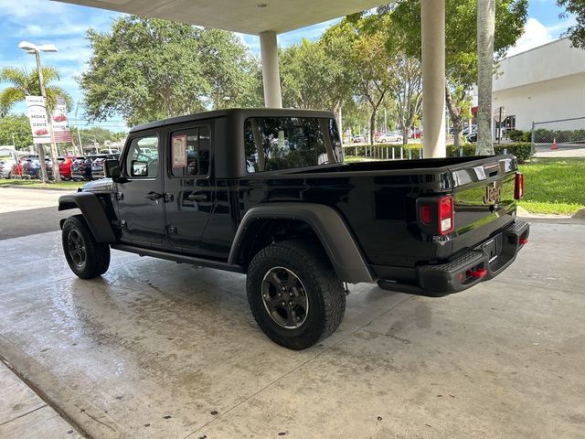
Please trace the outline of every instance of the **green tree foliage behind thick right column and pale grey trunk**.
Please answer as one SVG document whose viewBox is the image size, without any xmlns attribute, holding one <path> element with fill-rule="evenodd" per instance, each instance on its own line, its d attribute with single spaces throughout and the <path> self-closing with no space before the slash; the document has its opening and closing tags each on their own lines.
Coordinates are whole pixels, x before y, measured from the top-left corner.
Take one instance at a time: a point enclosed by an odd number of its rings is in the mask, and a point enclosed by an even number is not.
<svg viewBox="0 0 585 439">
<path fill-rule="evenodd" d="M 446 0 L 446 80 L 447 109 L 449 110 L 455 142 L 459 143 L 463 121 L 468 116 L 469 94 L 477 80 L 477 1 Z M 408 42 L 407 55 L 420 59 L 421 26 L 420 0 L 402 0 L 390 13 L 397 31 Z M 495 59 L 504 57 L 508 48 L 524 31 L 527 20 L 527 0 L 496 0 L 495 2 Z M 424 121 L 423 121 L 424 122 Z"/>
</svg>

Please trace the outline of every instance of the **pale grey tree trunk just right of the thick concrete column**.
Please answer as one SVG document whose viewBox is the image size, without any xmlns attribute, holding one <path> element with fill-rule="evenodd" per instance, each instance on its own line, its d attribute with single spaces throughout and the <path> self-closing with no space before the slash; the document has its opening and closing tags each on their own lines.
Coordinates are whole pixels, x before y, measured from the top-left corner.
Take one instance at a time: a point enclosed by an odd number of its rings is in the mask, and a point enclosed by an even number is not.
<svg viewBox="0 0 585 439">
<path fill-rule="evenodd" d="M 495 0 L 477 0 L 477 112 L 476 155 L 493 155 L 492 79 L 494 75 Z"/>
</svg>

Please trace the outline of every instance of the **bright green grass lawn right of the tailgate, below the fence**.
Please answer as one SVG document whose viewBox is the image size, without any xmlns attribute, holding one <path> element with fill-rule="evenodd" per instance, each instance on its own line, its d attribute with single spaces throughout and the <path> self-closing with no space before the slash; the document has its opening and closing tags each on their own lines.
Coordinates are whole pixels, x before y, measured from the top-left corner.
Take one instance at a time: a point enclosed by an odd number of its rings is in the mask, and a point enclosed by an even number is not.
<svg viewBox="0 0 585 439">
<path fill-rule="evenodd" d="M 585 159 L 541 159 L 520 165 L 524 199 L 532 213 L 570 215 L 585 208 Z"/>
</svg>

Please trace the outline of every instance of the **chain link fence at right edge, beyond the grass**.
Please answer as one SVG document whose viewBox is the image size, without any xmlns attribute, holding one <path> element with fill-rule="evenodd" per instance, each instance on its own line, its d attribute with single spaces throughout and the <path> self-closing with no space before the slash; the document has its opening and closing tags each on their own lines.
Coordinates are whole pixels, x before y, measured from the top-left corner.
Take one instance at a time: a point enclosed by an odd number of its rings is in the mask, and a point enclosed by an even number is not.
<svg viewBox="0 0 585 439">
<path fill-rule="evenodd" d="M 585 158 L 585 117 L 532 124 L 532 158 Z"/>
</svg>

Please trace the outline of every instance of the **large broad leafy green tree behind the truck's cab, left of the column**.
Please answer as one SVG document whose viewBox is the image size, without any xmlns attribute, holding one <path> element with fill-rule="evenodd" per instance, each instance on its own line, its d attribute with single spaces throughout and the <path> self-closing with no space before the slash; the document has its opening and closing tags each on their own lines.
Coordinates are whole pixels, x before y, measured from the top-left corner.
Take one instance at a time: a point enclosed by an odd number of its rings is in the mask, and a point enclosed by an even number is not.
<svg viewBox="0 0 585 439">
<path fill-rule="evenodd" d="M 87 37 L 80 87 L 90 120 L 136 124 L 253 102 L 257 61 L 231 32 L 124 16 Z"/>
</svg>

